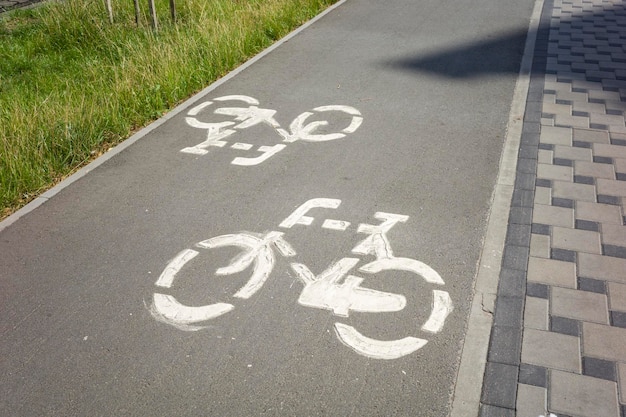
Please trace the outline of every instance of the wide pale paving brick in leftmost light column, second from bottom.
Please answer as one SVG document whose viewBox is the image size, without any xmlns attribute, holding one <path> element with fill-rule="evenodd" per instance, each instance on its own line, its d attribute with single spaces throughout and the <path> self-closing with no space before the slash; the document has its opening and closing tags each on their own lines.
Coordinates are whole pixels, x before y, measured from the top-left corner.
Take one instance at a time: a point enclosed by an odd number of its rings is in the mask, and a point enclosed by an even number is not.
<svg viewBox="0 0 626 417">
<path fill-rule="evenodd" d="M 525 328 L 522 362 L 580 373 L 580 340 L 575 336 Z"/>
</svg>

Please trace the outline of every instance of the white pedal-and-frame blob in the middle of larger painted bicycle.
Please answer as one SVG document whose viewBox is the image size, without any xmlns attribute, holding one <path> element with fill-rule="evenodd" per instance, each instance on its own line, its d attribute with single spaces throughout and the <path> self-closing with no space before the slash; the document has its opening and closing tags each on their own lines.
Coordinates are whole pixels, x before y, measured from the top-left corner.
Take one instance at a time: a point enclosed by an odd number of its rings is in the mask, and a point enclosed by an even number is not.
<svg viewBox="0 0 626 417">
<path fill-rule="evenodd" d="M 343 277 L 359 262 L 358 258 L 343 258 L 330 265 L 317 277 L 306 265 L 292 263 L 291 268 L 304 283 L 298 302 L 306 307 L 332 310 L 335 315 L 348 317 L 349 311 L 381 313 L 400 311 L 406 306 L 402 295 L 363 288 L 363 278 Z"/>
</svg>

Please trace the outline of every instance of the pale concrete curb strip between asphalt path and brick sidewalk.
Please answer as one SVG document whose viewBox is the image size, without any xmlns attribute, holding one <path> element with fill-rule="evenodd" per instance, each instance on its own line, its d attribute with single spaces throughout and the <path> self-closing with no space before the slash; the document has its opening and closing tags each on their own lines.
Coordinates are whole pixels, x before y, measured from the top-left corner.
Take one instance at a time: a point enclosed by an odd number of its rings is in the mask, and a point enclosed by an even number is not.
<svg viewBox="0 0 626 417">
<path fill-rule="evenodd" d="M 515 185 L 517 153 L 524 124 L 526 97 L 530 85 L 533 54 L 537 31 L 541 21 L 543 0 L 535 0 L 528 25 L 528 36 L 520 71 L 515 83 L 509 121 L 507 123 L 504 149 L 496 187 L 492 195 L 487 230 L 480 254 L 475 279 L 474 296 L 470 306 L 465 341 L 461 352 L 459 371 L 449 417 L 466 417 L 479 414 L 483 375 L 487 363 L 487 352 L 493 316 L 483 309 L 483 300 L 494 297 L 500 276 L 502 248 L 511 208 L 511 196 Z"/>
</svg>

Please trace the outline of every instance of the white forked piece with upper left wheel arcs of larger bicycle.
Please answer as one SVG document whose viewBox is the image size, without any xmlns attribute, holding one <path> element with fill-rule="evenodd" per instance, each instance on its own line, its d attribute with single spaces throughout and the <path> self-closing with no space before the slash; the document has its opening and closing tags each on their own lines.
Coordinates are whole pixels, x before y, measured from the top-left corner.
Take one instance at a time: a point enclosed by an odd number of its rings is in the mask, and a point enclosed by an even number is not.
<svg viewBox="0 0 626 417">
<path fill-rule="evenodd" d="M 235 297 L 247 299 L 256 293 L 265 283 L 274 268 L 274 253 L 270 245 L 274 244 L 283 256 L 293 256 L 295 250 L 282 238 L 280 232 L 269 232 L 263 238 L 240 233 L 236 235 L 223 235 L 204 240 L 197 244 L 202 248 L 219 248 L 225 246 L 238 246 L 243 252 L 233 258 L 226 267 L 215 271 L 217 275 L 231 275 L 244 271 L 253 262 L 252 276 L 248 282 L 235 293 Z"/>
</svg>

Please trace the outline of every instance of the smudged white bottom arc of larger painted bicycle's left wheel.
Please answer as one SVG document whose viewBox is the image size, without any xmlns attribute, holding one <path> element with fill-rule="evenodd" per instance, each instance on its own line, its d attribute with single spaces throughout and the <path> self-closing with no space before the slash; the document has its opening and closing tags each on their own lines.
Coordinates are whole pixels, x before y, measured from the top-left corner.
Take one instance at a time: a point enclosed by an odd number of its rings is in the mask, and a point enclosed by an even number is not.
<svg viewBox="0 0 626 417">
<path fill-rule="evenodd" d="M 227 303 L 190 307 L 179 303 L 171 295 L 155 293 L 150 313 L 155 319 L 171 324 L 180 330 L 196 331 L 202 329 L 203 326 L 193 326 L 193 323 L 211 320 L 234 308 L 235 306 Z"/>
</svg>

